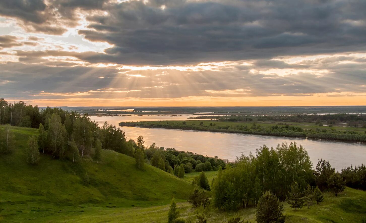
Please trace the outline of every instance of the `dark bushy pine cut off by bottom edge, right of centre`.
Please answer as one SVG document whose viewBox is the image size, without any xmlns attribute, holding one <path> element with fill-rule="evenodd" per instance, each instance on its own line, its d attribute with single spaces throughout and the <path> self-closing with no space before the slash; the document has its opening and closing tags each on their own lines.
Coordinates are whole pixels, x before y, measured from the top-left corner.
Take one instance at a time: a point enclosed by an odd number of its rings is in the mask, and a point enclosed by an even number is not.
<svg viewBox="0 0 366 223">
<path fill-rule="evenodd" d="M 259 198 L 255 220 L 258 223 L 264 222 L 285 222 L 285 217 L 282 215 L 283 205 L 277 199 L 276 195 L 267 191 Z"/>
</svg>

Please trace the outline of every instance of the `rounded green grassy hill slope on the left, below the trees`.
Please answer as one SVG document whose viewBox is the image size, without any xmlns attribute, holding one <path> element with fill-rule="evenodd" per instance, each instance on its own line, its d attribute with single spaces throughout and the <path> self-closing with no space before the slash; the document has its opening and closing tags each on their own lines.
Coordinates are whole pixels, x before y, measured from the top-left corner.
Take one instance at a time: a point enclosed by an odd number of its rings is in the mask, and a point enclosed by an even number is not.
<svg viewBox="0 0 366 223">
<path fill-rule="evenodd" d="M 25 153 L 27 139 L 36 135 L 37 129 L 12 127 L 12 131 L 15 150 L 0 158 L 1 220 L 4 221 L 27 220 L 21 216 L 32 213 L 33 206 L 37 210 L 32 214 L 35 217 L 42 212 L 41 207 L 47 207 L 43 214 L 62 210 L 57 206 L 85 204 L 146 207 L 168 204 L 172 197 L 185 200 L 193 190 L 187 181 L 150 165 L 140 171 L 132 157 L 111 150 L 103 151 L 99 163 L 83 159 L 74 164 L 41 154 L 37 165 L 29 165 Z M 85 180 L 86 173 L 89 183 Z"/>
</svg>

